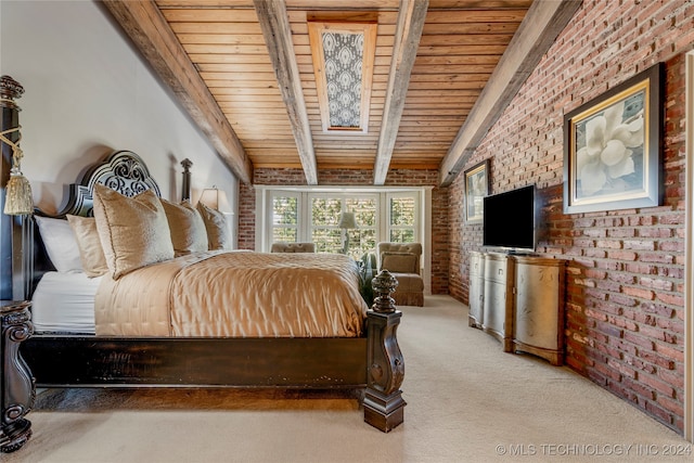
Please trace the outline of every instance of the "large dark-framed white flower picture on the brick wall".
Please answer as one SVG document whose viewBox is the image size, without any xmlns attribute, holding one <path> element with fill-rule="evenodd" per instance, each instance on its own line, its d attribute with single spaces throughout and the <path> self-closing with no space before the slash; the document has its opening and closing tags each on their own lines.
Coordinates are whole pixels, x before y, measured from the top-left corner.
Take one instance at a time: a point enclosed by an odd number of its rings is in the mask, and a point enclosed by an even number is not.
<svg viewBox="0 0 694 463">
<path fill-rule="evenodd" d="M 564 116 L 564 213 L 663 203 L 658 63 Z"/>
</svg>

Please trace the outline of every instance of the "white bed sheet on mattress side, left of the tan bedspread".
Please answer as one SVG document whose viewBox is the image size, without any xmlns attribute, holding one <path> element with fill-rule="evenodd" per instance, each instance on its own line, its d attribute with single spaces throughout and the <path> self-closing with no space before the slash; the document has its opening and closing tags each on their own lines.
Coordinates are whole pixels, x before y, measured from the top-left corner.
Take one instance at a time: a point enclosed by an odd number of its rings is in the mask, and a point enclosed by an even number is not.
<svg viewBox="0 0 694 463">
<path fill-rule="evenodd" d="M 35 333 L 94 334 L 94 296 L 101 282 L 85 273 L 48 272 L 31 298 Z"/>
</svg>

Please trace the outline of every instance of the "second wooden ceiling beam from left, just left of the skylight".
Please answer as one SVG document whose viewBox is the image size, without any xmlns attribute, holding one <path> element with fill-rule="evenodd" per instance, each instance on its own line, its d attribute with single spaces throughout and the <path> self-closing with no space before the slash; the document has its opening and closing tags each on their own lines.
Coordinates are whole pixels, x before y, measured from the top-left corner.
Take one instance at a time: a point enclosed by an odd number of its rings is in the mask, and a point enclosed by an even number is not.
<svg viewBox="0 0 694 463">
<path fill-rule="evenodd" d="M 294 54 L 286 4 L 284 0 L 253 0 L 253 3 L 290 116 L 306 182 L 310 185 L 318 184 L 318 166 L 311 139 L 311 127 L 308 121 L 301 78 Z"/>
</svg>

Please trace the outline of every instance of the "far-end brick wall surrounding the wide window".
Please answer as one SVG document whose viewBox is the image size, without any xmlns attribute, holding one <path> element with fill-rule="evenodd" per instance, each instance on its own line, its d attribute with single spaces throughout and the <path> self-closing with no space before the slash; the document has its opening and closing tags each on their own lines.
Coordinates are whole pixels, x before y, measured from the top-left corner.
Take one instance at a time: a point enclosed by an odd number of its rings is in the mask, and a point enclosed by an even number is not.
<svg viewBox="0 0 694 463">
<path fill-rule="evenodd" d="M 322 185 L 373 185 L 372 170 L 319 170 Z M 304 185 L 301 169 L 255 169 L 254 184 Z M 437 170 L 396 169 L 388 172 L 387 187 L 435 187 L 432 190 L 432 293 L 448 294 L 448 189 L 436 187 Z M 239 196 L 239 248 L 255 249 L 256 192 L 242 184 Z"/>
</svg>

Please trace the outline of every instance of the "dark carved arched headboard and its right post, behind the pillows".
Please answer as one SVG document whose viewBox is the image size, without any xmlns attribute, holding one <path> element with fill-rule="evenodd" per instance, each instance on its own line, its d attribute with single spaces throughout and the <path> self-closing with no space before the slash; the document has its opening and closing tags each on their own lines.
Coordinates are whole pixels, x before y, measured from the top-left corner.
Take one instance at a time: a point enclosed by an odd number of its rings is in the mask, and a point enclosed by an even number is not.
<svg viewBox="0 0 694 463">
<path fill-rule="evenodd" d="M 183 191 L 182 198 L 190 198 L 190 167 L 192 163 L 184 159 L 183 166 Z M 54 218 L 65 218 L 68 214 L 73 216 L 89 217 L 93 215 L 93 191 L 97 183 L 104 184 L 112 190 L 119 192 L 126 196 L 136 196 L 145 190 L 152 190 L 157 196 L 160 196 L 159 185 L 150 175 L 147 166 L 142 158 L 130 151 L 115 151 L 105 159 L 90 167 L 77 183 L 72 183 L 68 188 L 67 202 Z M 40 209 L 36 209 L 38 216 L 49 217 Z M 31 256 L 28 256 L 30 265 L 26 270 L 26 280 L 29 284 L 25 285 L 27 298 L 31 297 L 34 290 L 43 273 L 55 270 L 51 260 L 46 253 L 46 247 L 41 241 L 41 236 L 36 224 L 36 220 L 28 220 L 27 228 L 29 230 L 25 243 L 33 243 L 28 247 Z"/>
</svg>

